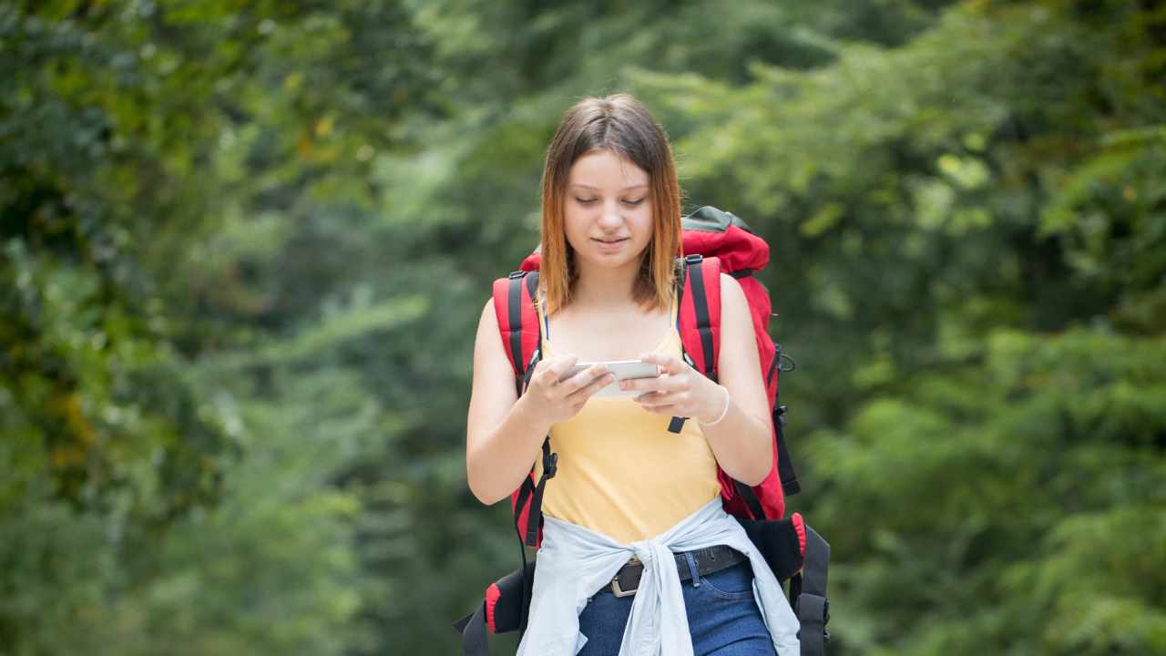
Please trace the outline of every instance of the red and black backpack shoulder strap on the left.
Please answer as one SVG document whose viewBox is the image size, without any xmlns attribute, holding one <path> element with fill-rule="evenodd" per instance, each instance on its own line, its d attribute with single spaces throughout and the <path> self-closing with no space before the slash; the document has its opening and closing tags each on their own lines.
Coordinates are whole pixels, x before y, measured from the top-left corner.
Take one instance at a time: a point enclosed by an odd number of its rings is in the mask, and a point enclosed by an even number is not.
<svg viewBox="0 0 1166 656">
<path fill-rule="evenodd" d="M 539 315 L 534 309 L 538 286 L 538 271 L 515 271 L 506 278 L 494 280 L 494 315 L 498 317 L 503 348 L 514 370 L 514 386 L 519 395 L 541 355 Z"/>
</svg>

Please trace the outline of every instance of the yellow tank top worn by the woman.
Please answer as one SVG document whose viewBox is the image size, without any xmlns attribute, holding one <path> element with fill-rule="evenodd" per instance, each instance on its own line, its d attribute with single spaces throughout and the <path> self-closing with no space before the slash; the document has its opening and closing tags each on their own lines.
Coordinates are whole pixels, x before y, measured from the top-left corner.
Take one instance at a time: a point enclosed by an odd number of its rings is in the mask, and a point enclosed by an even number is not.
<svg viewBox="0 0 1166 656">
<path fill-rule="evenodd" d="M 653 353 L 679 358 L 672 305 L 672 328 Z M 546 326 L 543 309 L 540 303 Z M 542 333 L 542 357 L 554 357 L 554 343 Z M 578 414 L 553 424 L 559 470 L 547 481 L 542 511 L 626 544 L 660 535 L 717 497 L 717 462 L 704 432 L 689 419 L 680 434 L 669 433 L 670 419 L 631 397 L 591 397 Z M 541 474 L 536 459 L 535 475 Z"/>
</svg>

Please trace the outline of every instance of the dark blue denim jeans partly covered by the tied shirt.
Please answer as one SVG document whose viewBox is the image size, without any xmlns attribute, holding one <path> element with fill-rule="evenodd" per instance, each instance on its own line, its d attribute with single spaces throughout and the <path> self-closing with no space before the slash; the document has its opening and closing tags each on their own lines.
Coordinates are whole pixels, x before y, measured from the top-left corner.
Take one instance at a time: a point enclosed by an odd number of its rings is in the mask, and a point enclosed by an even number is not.
<svg viewBox="0 0 1166 656">
<path fill-rule="evenodd" d="M 696 656 L 774 656 L 773 641 L 753 600 L 749 560 L 682 581 L 688 630 Z M 577 656 L 616 656 L 634 596 L 617 598 L 604 586 L 580 613 L 580 633 L 588 637 Z"/>
</svg>

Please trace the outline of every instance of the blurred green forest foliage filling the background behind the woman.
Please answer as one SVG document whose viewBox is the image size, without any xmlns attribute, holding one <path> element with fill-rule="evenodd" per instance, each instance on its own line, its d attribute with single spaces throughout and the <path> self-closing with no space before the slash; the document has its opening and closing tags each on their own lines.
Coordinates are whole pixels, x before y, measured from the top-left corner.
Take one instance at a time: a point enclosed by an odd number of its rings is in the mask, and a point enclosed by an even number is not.
<svg viewBox="0 0 1166 656">
<path fill-rule="evenodd" d="M 614 91 L 772 246 L 831 654 L 1166 652 L 1164 2 L 6 1 L 0 78 L 0 654 L 455 654 L 478 315 Z"/>
</svg>

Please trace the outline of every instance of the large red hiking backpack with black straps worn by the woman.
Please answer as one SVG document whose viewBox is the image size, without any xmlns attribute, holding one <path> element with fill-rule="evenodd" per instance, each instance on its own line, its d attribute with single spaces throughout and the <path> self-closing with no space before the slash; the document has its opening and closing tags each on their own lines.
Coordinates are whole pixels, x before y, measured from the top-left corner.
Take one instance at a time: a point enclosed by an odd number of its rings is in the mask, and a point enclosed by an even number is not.
<svg viewBox="0 0 1166 656">
<path fill-rule="evenodd" d="M 717 468 L 721 498 L 725 511 L 743 519 L 780 519 L 787 494 L 799 491 L 798 477 L 789 462 L 782 434 L 785 406 L 778 403 L 778 382 L 782 362 L 791 362 L 768 334 L 770 292 L 753 273 L 770 261 L 770 245 L 740 218 L 712 207 L 703 207 L 681 219 L 684 258 L 677 258 L 680 312 L 676 323 L 684 361 L 717 381 L 721 353 L 721 272 L 740 284 L 749 301 L 757 337 L 761 375 L 773 419 L 773 469 L 758 486 L 746 486 Z M 506 356 L 514 370 L 518 393 L 526 390 L 535 363 L 541 357 L 540 324 L 533 299 L 539 281 L 541 253 L 535 250 L 522 260 L 519 271 L 493 285 L 494 312 Z M 673 417 L 668 430 L 679 433 L 687 418 Z M 542 495 L 557 467 L 550 438 L 542 442 L 542 476 L 531 474 L 511 495 L 514 526 L 522 543 L 538 547 L 542 542 Z"/>
</svg>

